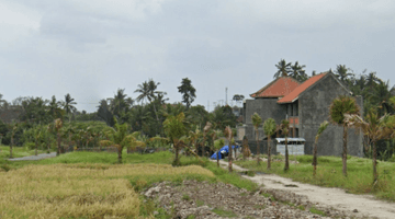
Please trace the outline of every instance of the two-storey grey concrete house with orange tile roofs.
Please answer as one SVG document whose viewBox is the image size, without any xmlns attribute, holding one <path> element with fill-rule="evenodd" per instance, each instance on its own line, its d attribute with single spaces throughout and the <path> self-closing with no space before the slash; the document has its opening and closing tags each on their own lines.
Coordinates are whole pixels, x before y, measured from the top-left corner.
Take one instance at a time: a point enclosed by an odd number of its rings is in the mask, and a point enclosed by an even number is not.
<svg viewBox="0 0 395 219">
<path fill-rule="evenodd" d="M 253 100 L 244 103 L 244 125 L 238 127 L 238 140 L 247 136 L 251 151 L 256 151 L 256 131 L 252 126 L 251 116 L 258 113 L 262 120 L 273 118 L 276 124 L 287 118 L 291 130 L 289 137 L 301 137 L 306 140 L 305 153 L 313 153 L 313 145 L 319 125 L 329 119 L 329 106 L 334 99 L 339 95 L 351 95 L 351 92 L 331 72 L 313 76 L 301 83 L 291 77 L 281 77 L 257 92 L 250 94 Z M 363 112 L 362 96 L 356 96 L 357 104 Z M 362 135 L 357 135 L 350 129 L 348 138 L 348 153 L 351 155 L 363 155 Z M 275 136 L 274 136 L 275 137 Z M 259 139 L 263 147 L 260 152 L 266 153 L 267 136 L 259 127 Z M 273 141 L 273 145 L 274 141 Z M 272 145 L 272 146 L 273 146 Z M 318 141 L 319 155 L 341 155 L 342 153 L 342 128 L 329 125 Z M 263 149 L 262 149 L 263 148 Z M 275 147 L 273 147 L 275 152 Z"/>
</svg>

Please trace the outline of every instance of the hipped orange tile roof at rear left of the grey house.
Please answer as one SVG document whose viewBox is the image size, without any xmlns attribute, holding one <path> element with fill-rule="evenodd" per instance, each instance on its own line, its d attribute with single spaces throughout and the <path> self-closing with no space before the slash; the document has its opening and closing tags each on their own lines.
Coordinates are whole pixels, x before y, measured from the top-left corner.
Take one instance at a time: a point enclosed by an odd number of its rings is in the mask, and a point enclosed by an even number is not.
<svg viewBox="0 0 395 219">
<path fill-rule="evenodd" d="M 291 93 L 300 82 L 291 77 L 280 77 L 259 91 L 250 94 L 251 97 L 281 97 Z"/>
</svg>

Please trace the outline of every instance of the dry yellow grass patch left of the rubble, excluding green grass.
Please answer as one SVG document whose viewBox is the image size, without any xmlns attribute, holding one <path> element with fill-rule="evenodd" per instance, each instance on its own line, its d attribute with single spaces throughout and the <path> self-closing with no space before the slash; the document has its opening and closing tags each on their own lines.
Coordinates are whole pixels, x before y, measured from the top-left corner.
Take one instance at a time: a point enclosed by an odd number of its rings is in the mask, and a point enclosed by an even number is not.
<svg viewBox="0 0 395 219">
<path fill-rule="evenodd" d="M 138 195 L 126 177 L 214 174 L 167 164 L 29 165 L 0 172 L 0 218 L 137 218 Z"/>
</svg>

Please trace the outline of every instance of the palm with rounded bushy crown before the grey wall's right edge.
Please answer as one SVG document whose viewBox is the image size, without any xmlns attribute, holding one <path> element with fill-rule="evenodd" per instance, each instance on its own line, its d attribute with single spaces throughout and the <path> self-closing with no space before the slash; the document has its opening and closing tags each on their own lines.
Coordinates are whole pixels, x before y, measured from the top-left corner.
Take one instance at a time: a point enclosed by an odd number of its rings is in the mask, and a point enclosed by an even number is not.
<svg viewBox="0 0 395 219">
<path fill-rule="evenodd" d="M 347 176 L 347 134 L 348 125 L 345 119 L 345 114 L 359 115 L 360 108 L 357 105 L 356 99 L 351 96 L 341 95 L 335 99 L 329 106 L 329 120 L 332 124 L 343 127 L 343 151 L 342 151 L 342 173 Z"/>
</svg>

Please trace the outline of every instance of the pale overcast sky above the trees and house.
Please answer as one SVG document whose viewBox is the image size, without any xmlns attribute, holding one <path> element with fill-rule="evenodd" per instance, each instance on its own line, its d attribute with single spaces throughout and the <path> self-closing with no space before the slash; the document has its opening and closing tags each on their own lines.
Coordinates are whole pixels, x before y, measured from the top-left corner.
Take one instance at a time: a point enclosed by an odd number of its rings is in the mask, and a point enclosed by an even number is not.
<svg viewBox="0 0 395 219">
<path fill-rule="evenodd" d="M 212 111 L 258 91 L 285 59 L 306 73 L 346 65 L 395 82 L 392 0 L 0 0 L 0 93 L 69 93 L 95 112 L 153 79 L 170 103 L 189 78 Z"/>
</svg>

